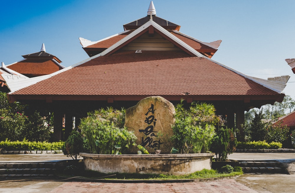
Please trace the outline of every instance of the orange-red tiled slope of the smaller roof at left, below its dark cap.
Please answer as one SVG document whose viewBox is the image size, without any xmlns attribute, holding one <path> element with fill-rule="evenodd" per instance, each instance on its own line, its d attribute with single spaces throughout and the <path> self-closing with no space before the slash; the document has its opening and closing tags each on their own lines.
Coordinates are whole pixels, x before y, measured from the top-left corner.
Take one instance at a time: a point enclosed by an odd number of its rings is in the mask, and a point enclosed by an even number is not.
<svg viewBox="0 0 295 193">
<path fill-rule="evenodd" d="M 6 66 L 23 75 L 46 75 L 63 69 L 51 59 L 28 58 Z"/>
</svg>

